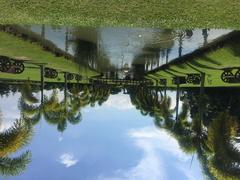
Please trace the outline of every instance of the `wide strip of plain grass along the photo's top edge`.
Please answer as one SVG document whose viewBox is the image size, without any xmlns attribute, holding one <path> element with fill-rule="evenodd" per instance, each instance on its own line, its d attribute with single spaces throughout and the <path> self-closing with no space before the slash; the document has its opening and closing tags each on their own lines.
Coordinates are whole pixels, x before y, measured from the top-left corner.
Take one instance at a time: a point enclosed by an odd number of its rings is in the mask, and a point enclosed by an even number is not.
<svg viewBox="0 0 240 180">
<path fill-rule="evenodd" d="M 239 0 L 0 0 L 1 24 L 240 29 Z"/>
</svg>

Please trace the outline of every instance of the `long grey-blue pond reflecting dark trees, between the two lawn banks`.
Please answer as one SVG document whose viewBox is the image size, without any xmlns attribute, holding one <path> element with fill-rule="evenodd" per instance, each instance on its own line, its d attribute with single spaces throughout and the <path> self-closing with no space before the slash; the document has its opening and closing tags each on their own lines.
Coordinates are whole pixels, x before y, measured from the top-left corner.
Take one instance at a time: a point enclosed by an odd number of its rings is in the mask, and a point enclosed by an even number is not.
<svg viewBox="0 0 240 180">
<path fill-rule="evenodd" d="M 206 45 L 216 37 L 230 32 L 228 30 L 171 30 L 149 28 L 76 28 L 27 26 L 32 31 L 44 35 L 62 50 L 75 55 L 80 61 L 99 61 L 104 68 L 122 67 L 125 63 L 145 64 L 146 70 L 168 63 L 169 60 L 181 57 L 199 46 Z M 43 33 L 44 32 L 44 33 Z M 80 49 L 79 49 L 80 48 Z M 84 53 L 77 52 L 78 50 Z M 83 57 L 84 58 L 80 58 Z M 141 58 L 142 62 L 134 62 L 134 57 Z M 97 58 L 98 57 L 98 58 Z M 153 59 L 152 59 L 153 57 Z M 154 58 L 156 60 L 154 60 Z M 144 60 L 145 59 L 145 60 Z M 107 62 L 109 61 L 109 62 Z M 96 66 L 96 65 L 95 65 Z M 110 67 L 109 67 L 110 66 Z"/>
</svg>

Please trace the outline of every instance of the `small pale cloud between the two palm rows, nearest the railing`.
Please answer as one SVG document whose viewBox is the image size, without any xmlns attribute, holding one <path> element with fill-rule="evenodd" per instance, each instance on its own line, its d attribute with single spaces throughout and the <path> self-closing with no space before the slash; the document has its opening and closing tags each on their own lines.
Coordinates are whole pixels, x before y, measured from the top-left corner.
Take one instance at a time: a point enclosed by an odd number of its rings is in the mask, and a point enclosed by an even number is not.
<svg viewBox="0 0 240 180">
<path fill-rule="evenodd" d="M 129 96 L 124 94 L 111 95 L 104 103 L 104 105 L 118 110 L 127 110 L 134 108 Z"/>
</svg>

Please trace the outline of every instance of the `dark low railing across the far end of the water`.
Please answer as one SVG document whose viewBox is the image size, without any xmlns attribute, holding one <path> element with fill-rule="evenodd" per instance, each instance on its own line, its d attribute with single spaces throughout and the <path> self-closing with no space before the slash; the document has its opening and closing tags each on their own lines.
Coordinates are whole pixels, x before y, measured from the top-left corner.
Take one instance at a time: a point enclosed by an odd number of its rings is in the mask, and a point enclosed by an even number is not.
<svg viewBox="0 0 240 180">
<path fill-rule="evenodd" d="M 93 84 L 115 84 L 115 85 L 129 85 L 129 86 L 139 86 L 146 85 L 150 86 L 153 83 L 149 80 L 135 80 L 135 79 L 108 79 L 108 78 L 97 78 L 90 79 L 90 83 Z"/>
</svg>

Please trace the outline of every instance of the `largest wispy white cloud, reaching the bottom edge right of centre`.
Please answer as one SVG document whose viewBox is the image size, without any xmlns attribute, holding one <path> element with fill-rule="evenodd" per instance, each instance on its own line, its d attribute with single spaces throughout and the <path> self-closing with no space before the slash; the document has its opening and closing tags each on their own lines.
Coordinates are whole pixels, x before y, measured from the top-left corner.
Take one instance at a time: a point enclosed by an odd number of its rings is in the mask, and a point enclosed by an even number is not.
<svg viewBox="0 0 240 180">
<path fill-rule="evenodd" d="M 159 152 L 166 151 L 174 156 L 180 163 L 189 160 L 178 142 L 166 131 L 156 129 L 153 126 L 141 129 L 131 129 L 128 131 L 135 145 L 143 151 L 143 157 L 136 166 L 129 169 L 118 169 L 112 177 L 99 176 L 98 179 L 104 180 L 162 180 L 167 179 L 166 167 Z"/>
</svg>

